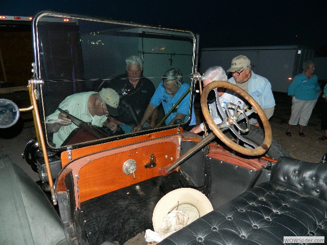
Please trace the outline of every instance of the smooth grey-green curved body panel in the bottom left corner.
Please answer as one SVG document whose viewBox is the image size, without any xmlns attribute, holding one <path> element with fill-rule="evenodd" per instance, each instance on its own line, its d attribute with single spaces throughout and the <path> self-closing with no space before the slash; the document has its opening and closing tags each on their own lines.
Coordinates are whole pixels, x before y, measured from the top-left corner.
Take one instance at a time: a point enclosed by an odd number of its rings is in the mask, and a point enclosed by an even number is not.
<svg viewBox="0 0 327 245">
<path fill-rule="evenodd" d="M 0 188 L 1 244 L 67 244 L 49 199 L 8 156 L 0 157 Z"/>
</svg>

